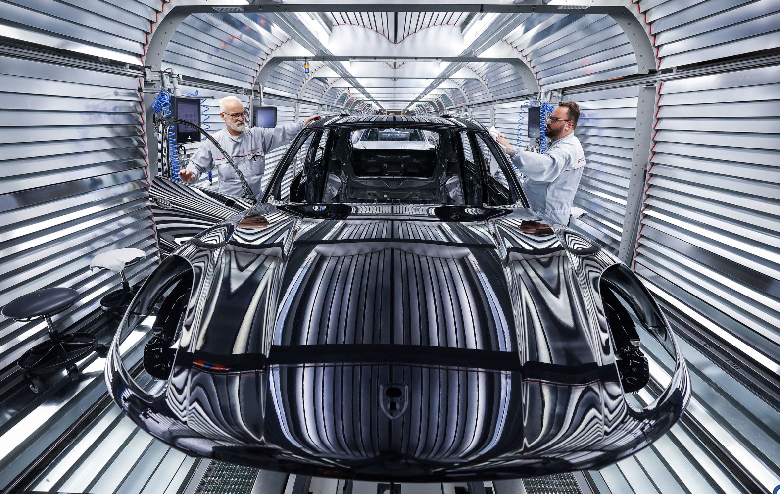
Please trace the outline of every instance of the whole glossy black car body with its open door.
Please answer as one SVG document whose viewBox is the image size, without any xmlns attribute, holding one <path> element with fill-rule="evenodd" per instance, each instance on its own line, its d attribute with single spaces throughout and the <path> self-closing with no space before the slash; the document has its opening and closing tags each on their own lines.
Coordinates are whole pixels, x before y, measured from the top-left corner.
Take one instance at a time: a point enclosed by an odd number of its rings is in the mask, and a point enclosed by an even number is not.
<svg viewBox="0 0 780 494">
<path fill-rule="evenodd" d="M 436 144 L 350 137 L 394 126 Z M 155 178 L 172 252 L 112 345 L 116 403 L 186 453 L 366 480 L 521 478 L 651 444 L 690 397 L 674 335 L 636 275 L 527 208 L 510 170 L 470 119 L 333 116 L 258 204 Z M 640 333 L 675 359 L 644 408 L 626 400 L 647 385 Z"/>
</svg>

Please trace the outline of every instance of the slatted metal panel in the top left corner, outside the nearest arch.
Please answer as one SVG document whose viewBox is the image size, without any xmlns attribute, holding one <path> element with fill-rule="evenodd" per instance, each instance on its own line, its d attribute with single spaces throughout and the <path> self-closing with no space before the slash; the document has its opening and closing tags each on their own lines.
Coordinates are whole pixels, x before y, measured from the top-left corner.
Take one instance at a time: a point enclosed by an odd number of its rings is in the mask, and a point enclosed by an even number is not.
<svg viewBox="0 0 780 494">
<path fill-rule="evenodd" d="M 162 0 L 0 0 L 5 37 L 140 65 Z"/>
</svg>

